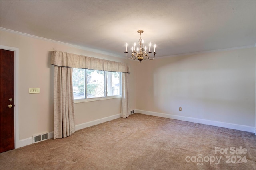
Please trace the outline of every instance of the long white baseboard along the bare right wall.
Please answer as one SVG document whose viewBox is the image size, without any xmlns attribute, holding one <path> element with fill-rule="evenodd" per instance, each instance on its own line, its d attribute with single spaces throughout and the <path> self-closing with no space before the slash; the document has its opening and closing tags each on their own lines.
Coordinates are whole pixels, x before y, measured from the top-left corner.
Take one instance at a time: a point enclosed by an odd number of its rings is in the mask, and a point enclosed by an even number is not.
<svg viewBox="0 0 256 170">
<path fill-rule="evenodd" d="M 135 110 L 135 112 L 145 114 L 145 115 L 152 115 L 152 116 L 164 117 L 164 118 L 169 118 L 169 119 L 189 121 L 189 122 L 193 122 L 193 123 L 225 127 L 228 129 L 236 129 L 236 130 L 240 130 L 240 131 L 255 133 L 255 127 L 251 127 L 251 126 L 237 125 L 237 124 L 225 123 L 225 122 L 220 122 L 220 121 L 211 121 L 211 120 L 206 120 L 206 119 L 197 119 L 197 118 L 178 116 L 178 115 L 169 115 L 169 114 L 165 114 L 165 113 L 157 113 L 157 112 L 144 111 L 144 110 Z"/>
</svg>

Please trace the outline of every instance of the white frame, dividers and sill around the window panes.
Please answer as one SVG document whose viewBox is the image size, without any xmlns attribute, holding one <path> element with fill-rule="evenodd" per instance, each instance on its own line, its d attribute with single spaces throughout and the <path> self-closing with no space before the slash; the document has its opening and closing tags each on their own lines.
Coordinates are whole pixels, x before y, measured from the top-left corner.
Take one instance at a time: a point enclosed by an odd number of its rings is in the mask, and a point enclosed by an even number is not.
<svg viewBox="0 0 256 170">
<path fill-rule="evenodd" d="M 120 74 L 119 76 L 119 82 L 120 82 L 120 94 L 119 95 L 112 95 L 107 96 L 107 73 L 110 71 L 104 71 L 104 95 L 103 97 L 94 97 L 94 98 L 87 98 L 87 70 L 93 70 L 93 69 L 87 69 L 87 68 L 73 68 L 73 69 L 84 69 L 84 98 L 80 99 L 74 99 L 74 103 L 82 103 L 82 102 L 92 102 L 92 101 L 98 101 L 98 100 L 108 100 L 108 99 L 114 99 L 114 98 L 122 98 L 122 73 L 118 72 Z M 73 81 L 73 80 L 72 80 Z"/>
</svg>

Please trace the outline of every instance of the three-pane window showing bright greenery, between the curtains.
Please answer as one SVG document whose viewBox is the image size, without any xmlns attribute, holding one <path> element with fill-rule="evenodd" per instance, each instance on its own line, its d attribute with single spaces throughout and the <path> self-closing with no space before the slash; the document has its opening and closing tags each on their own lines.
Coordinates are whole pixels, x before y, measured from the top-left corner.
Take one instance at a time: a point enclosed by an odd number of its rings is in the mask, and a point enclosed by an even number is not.
<svg viewBox="0 0 256 170">
<path fill-rule="evenodd" d="M 74 100 L 121 95 L 120 72 L 73 68 Z"/>
</svg>

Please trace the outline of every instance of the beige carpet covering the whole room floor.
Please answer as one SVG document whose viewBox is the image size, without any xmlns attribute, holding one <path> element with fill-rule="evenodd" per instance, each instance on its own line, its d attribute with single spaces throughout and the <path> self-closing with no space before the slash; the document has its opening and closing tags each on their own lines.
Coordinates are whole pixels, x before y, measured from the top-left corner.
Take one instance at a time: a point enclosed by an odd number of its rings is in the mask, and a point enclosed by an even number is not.
<svg viewBox="0 0 256 170">
<path fill-rule="evenodd" d="M 216 154 L 215 147 L 219 147 Z M 256 137 L 136 113 L 65 139 L 10 150 L 0 158 L 1 170 L 252 170 L 256 169 Z"/>
</svg>

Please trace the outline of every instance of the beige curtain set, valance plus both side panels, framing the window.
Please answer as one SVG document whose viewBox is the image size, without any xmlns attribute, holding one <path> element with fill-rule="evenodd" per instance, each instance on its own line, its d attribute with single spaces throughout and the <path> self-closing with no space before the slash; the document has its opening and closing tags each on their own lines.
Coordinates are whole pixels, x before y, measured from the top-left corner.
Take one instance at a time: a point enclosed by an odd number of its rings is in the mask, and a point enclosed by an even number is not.
<svg viewBox="0 0 256 170">
<path fill-rule="evenodd" d="M 129 116 L 127 73 L 130 73 L 130 67 L 128 64 L 62 51 L 52 51 L 51 64 L 55 66 L 54 139 L 71 136 L 75 132 L 72 68 L 122 72 L 121 117 Z"/>
</svg>

